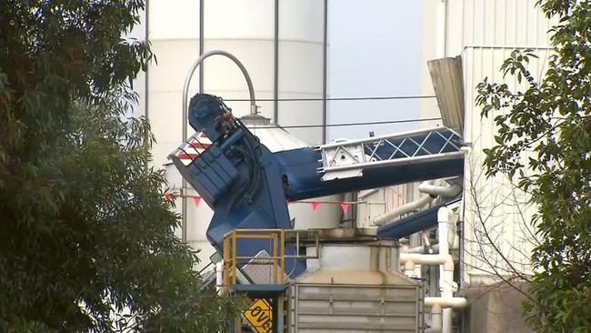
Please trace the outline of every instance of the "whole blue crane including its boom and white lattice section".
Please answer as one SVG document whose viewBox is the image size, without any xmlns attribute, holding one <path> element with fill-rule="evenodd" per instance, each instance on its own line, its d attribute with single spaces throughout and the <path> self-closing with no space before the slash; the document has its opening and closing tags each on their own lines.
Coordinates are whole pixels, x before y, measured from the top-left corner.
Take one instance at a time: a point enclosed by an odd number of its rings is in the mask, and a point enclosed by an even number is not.
<svg viewBox="0 0 591 333">
<path fill-rule="evenodd" d="M 211 144 L 188 165 L 176 154 L 171 158 L 213 208 L 206 235 L 218 251 L 225 234 L 235 228 L 291 228 L 286 200 L 456 177 L 464 171 L 461 137 L 443 126 L 272 153 L 217 96 L 193 96 L 188 120 Z M 388 234 L 378 230 L 377 237 Z M 238 252 L 255 256 L 265 247 L 253 240 Z M 305 263 L 287 268 L 297 275 Z"/>
</svg>

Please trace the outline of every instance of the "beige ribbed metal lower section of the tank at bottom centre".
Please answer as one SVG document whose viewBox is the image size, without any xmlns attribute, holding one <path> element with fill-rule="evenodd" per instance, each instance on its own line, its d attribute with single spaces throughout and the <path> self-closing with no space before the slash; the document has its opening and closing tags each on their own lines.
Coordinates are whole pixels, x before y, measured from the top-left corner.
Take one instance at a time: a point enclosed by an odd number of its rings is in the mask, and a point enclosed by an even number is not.
<svg viewBox="0 0 591 333">
<path fill-rule="evenodd" d="M 291 291 L 294 333 L 423 331 L 417 286 L 295 283 Z"/>
</svg>

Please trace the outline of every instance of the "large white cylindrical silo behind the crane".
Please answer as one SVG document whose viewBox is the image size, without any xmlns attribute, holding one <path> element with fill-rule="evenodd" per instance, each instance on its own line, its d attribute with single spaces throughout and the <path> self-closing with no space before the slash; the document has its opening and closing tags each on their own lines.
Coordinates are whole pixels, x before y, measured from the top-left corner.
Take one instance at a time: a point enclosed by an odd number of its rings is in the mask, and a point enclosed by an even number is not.
<svg viewBox="0 0 591 333">
<path fill-rule="evenodd" d="M 326 0 L 148 0 L 147 39 L 157 59 L 157 64 L 149 66 L 145 78 L 145 114 L 157 140 L 153 164 L 165 164 L 166 156 L 186 139 L 182 135 L 181 106 L 185 76 L 200 54 L 214 49 L 235 55 L 245 65 L 262 116 L 282 126 L 317 125 L 289 128 L 289 131 L 308 145 L 323 143 L 325 7 Z M 233 101 L 248 99 L 248 92 L 244 77 L 231 61 L 210 57 L 200 71 L 203 72 L 195 73 L 191 82 L 189 96 L 199 91 L 222 96 L 235 116 L 249 112 L 247 101 Z M 191 134 L 189 127 L 188 135 Z M 269 142 L 261 139 L 265 144 Z M 167 167 L 166 177 L 170 187 L 180 189 L 182 180 L 173 167 Z M 197 196 L 193 188 L 187 188 L 185 195 Z M 182 201 L 175 202 L 179 213 Z M 203 253 L 199 257 L 206 263 L 207 257 L 213 254 L 213 247 L 205 239 L 212 211 L 205 202 L 195 207 L 191 198 L 185 204 L 187 227 L 179 236 L 201 248 Z M 331 213 L 325 213 L 326 209 Z M 340 218 L 338 205 L 321 205 L 316 213 L 308 205 L 291 205 L 292 213 L 297 210 L 301 213 L 296 221 L 322 219 L 336 226 Z"/>
</svg>

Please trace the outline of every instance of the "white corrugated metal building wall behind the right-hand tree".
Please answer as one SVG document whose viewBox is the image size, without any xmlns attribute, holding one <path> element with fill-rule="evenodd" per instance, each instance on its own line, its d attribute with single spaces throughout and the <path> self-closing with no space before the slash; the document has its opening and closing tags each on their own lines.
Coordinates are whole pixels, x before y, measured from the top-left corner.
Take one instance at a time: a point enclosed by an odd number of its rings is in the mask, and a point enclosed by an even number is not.
<svg viewBox="0 0 591 333">
<path fill-rule="evenodd" d="M 534 244 L 529 217 L 533 209 L 526 197 L 505 177 L 486 178 L 482 149 L 495 144 L 494 115 L 482 119 L 475 105 L 476 86 L 485 77 L 516 89 L 514 79 L 499 72 L 503 61 L 518 49 L 531 48 L 530 71 L 544 73 L 550 48 L 548 22 L 535 0 L 450 0 L 447 3 L 446 55 L 462 55 L 466 125 L 464 138 L 471 146 L 465 173 L 465 279 L 486 281 L 490 274 L 528 272 L 528 257 Z M 486 235 L 487 234 L 487 235 Z M 502 255 L 496 253 L 496 248 Z"/>
</svg>

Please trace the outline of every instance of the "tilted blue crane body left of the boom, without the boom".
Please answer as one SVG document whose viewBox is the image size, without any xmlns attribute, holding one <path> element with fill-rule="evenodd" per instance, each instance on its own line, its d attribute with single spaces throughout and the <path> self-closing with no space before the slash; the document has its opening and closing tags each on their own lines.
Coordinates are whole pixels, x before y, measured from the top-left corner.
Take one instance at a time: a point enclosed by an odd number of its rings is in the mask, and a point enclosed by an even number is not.
<svg viewBox="0 0 591 333">
<path fill-rule="evenodd" d="M 181 175 L 214 208 L 207 238 L 222 250 L 224 236 L 235 228 L 290 228 L 276 158 L 215 96 L 196 95 L 189 105 L 189 124 L 212 141 L 189 166 L 171 156 Z M 260 250 L 272 254 L 268 241 L 248 240 L 237 253 L 254 257 Z M 294 248 L 286 248 L 294 254 Z M 294 276 L 306 270 L 303 261 L 285 263 Z"/>
</svg>

